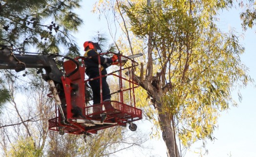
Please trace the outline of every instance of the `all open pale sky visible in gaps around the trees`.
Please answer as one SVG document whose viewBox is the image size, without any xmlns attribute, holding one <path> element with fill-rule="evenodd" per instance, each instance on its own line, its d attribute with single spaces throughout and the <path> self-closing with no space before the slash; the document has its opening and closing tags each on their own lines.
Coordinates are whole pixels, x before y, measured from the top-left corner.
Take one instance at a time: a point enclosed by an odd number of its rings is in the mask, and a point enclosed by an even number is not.
<svg viewBox="0 0 256 157">
<path fill-rule="evenodd" d="M 83 55 L 83 43 L 92 39 L 97 31 L 108 33 L 107 23 L 104 18 L 99 20 L 98 16 L 91 13 L 94 0 L 84 0 L 82 8 L 77 12 L 84 20 L 84 25 L 79 33 L 75 34 L 76 41 L 81 47 Z M 249 68 L 249 75 L 256 80 L 256 27 L 242 31 L 239 12 L 236 9 L 223 11 L 218 22 L 219 28 L 224 32 L 235 29 L 241 35 L 240 43 L 245 47 L 245 53 L 241 61 Z M 110 37 L 109 37 L 110 39 Z M 206 148 L 209 153 L 203 157 L 256 157 L 256 88 L 249 84 L 241 89 L 242 102 L 238 101 L 237 93 L 233 93 L 238 107 L 231 107 L 230 110 L 222 112 L 218 118 L 218 128 L 214 131 L 214 141 L 208 141 Z M 137 122 L 138 131 L 148 132 L 152 124 L 148 121 Z M 122 157 L 167 157 L 166 146 L 160 139 L 152 139 L 145 143 L 150 149 L 138 150 L 129 149 L 117 156 Z M 195 143 L 187 151 L 185 157 L 199 157 L 201 143 Z"/>
</svg>

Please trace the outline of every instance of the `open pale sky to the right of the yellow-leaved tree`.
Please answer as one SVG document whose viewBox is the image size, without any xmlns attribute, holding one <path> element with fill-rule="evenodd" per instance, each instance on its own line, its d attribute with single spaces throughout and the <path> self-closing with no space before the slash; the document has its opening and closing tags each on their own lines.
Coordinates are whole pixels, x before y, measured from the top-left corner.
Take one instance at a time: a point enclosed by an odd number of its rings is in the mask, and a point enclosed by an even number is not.
<svg viewBox="0 0 256 157">
<path fill-rule="evenodd" d="M 249 74 L 256 79 L 256 27 L 243 32 L 239 11 L 224 11 L 220 16 L 219 26 L 223 31 L 235 28 L 243 38 L 240 43 L 245 46 L 242 62 L 250 69 Z M 238 107 L 232 107 L 228 113 L 223 112 L 218 120 L 218 130 L 214 132 L 214 143 L 209 142 L 209 155 L 206 157 L 256 157 L 256 88 L 252 85 L 240 90 L 243 99 Z M 238 101 L 237 94 L 234 98 Z"/>
</svg>

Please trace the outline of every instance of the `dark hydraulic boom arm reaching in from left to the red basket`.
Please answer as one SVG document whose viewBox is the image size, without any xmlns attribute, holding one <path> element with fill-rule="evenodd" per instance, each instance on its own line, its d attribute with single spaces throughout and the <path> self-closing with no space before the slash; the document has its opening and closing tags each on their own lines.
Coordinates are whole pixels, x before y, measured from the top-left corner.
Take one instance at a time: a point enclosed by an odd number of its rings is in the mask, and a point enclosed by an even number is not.
<svg viewBox="0 0 256 157">
<path fill-rule="evenodd" d="M 54 58 L 57 55 L 21 55 L 14 54 L 11 49 L 3 48 L 0 50 L 0 69 L 14 69 L 16 72 L 20 72 L 25 70 L 25 68 L 39 68 L 44 69 L 45 74 L 42 74 L 42 77 L 45 81 L 47 81 L 50 85 L 50 90 L 52 92 L 52 98 L 55 99 L 56 104 L 58 105 L 60 115 L 62 116 L 62 120 L 65 121 L 64 111 L 62 105 L 65 105 L 65 97 L 64 97 L 64 89 L 62 85 L 62 78 L 64 72 L 62 72 L 58 66 Z M 65 59 L 70 59 L 68 57 L 64 57 Z M 74 59 L 70 59 L 74 61 Z M 77 72 L 79 64 L 74 61 L 74 64 L 77 68 L 72 71 L 70 74 L 66 76 L 71 76 Z M 43 72 L 42 72 L 43 73 Z M 55 84 L 59 84 L 59 91 Z M 62 85 L 62 86 L 61 86 Z M 60 98 L 61 95 L 61 98 Z"/>
</svg>

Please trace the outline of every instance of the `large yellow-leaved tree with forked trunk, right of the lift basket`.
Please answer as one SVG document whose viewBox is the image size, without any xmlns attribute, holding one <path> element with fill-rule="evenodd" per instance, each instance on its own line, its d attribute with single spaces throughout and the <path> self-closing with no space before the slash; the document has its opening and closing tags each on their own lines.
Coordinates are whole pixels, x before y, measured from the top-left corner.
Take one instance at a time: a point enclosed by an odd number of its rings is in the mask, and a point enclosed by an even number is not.
<svg viewBox="0 0 256 157">
<path fill-rule="evenodd" d="M 178 139 L 185 147 L 196 140 L 213 140 L 219 112 L 237 105 L 231 92 L 237 84 L 245 87 L 252 81 L 240 62 L 244 48 L 238 37 L 221 32 L 214 23 L 218 11 L 229 9 L 233 2 L 109 0 L 100 4 L 101 13 L 108 6 L 112 9 L 126 37 L 136 37 L 128 38 L 131 53 L 133 45 L 144 50 L 142 63 L 147 66 L 144 69 L 142 64 L 136 80 L 157 111 L 168 156 L 182 156 Z"/>
</svg>

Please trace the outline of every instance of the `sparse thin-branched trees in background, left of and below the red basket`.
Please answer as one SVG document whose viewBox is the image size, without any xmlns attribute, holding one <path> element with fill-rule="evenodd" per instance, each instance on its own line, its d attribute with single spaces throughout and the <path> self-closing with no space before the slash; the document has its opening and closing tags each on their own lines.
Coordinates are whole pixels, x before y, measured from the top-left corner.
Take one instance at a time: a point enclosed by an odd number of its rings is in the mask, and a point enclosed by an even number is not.
<svg viewBox="0 0 256 157">
<path fill-rule="evenodd" d="M 86 137 L 59 135 L 49 131 L 47 120 L 54 116 L 54 102 L 48 98 L 48 85 L 36 71 L 28 71 L 24 80 L 8 76 L 6 84 L 12 94 L 0 123 L 0 153 L 5 157 L 110 156 L 130 147 L 141 147 L 147 138 L 127 128 L 114 127 Z M 31 86 L 27 86 L 26 84 Z M 6 87 L 7 88 L 7 87 Z M 22 98 L 18 96 L 22 91 Z"/>
</svg>

